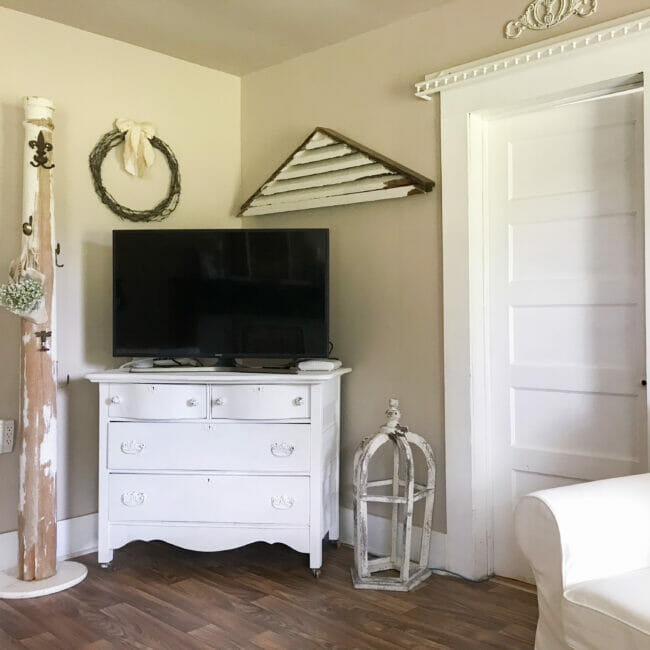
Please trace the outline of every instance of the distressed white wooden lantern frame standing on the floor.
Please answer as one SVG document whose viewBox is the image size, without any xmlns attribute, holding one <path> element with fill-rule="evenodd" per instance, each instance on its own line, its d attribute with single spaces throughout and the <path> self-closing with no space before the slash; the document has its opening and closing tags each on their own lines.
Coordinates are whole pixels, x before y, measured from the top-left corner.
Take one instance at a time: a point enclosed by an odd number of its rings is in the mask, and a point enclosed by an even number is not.
<svg viewBox="0 0 650 650">
<path fill-rule="evenodd" d="M 365 438 L 354 456 L 354 568 L 352 581 L 357 589 L 409 591 L 431 575 L 429 546 L 433 517 L 436 467 L 433 450 L 427 441 L 400 425 L 399 402 L 389 400 L 387 422 L 373 437 Z M 380 447 L 393 445 L 393 477 L 368 481 L 370 461 Z M 413 447 L 424 454 L 427 478 L 424 485 L 415 482 Z M 385 494 L 387 488 L 390 494 Z M 382 493 L 384 492 L 384 493 Z M 422 538 L 417 562 L 411 561 L 413 505 L 424 499 Z M 368 503 L 390 504 L 392 537 L 389 556 L 368 558 Z M 373 573 L 398 571 L 399 576 Z"/>
</svg>

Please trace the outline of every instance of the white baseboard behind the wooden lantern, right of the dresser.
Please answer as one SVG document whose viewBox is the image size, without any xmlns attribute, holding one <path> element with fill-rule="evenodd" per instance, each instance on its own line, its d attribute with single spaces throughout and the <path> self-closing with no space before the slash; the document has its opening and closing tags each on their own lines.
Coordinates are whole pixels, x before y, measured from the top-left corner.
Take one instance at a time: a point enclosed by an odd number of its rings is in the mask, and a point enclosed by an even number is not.
<svg viewBox="0 0 650 650">
<path fill-rule="evenodd" d="M 354 543 L 354 512 L 351 508 L 341 508 L 341 541 L 344 544 Z M 422 537 L 422 528 L 413 526 L 413 551 L 412 559 L 416 559 L 420 552 L 419 543 Z M 391 544 L 391 523 L 390 519 L 368 516 L 368 550 L 373 555 L 390 555 Z M 431 535 L 431 548 L 429 550 L 429 566 L 431 568 L 446 568 L 446 546 L 447 535 L 438 533 L 435 530 Z"/>
</svg>

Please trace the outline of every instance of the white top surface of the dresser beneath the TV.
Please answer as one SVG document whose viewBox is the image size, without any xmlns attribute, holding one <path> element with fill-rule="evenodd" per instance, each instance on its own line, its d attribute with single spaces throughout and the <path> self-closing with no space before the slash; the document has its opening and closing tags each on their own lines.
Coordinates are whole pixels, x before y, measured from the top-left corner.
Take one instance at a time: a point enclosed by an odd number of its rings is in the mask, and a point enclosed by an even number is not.
<svg viewBox="0 0 650 650">
<path fill-rule="evenodd" d="M 337 368 L 332 372 L 296 373 L 182 370 L 131 372 L 124 368 L 92 372 L 86 375 L 86 379 L 96 384 L 320 384 L 349 372 L 352 372 L 351 368 Z"/>
</svg>

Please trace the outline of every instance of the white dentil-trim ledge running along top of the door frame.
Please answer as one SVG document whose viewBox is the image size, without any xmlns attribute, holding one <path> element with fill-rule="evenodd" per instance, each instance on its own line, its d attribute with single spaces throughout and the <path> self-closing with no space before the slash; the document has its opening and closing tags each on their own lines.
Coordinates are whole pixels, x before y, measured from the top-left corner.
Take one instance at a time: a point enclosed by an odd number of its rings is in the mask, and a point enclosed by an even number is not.
<svg viewBox="0 0 650 650">
<path fill-rule="evenodd" d="M 549 59 L 563 59 L 582 50 L 595 51 L 612 41 L 630 40 L 630 37 L 647 34 L 648 31 L 650 10 L 641 11 L 601 23 L 596 27 L 586 27 L 568 36 L 546 39 L 534 45 L 464 63 L 448 70 L 432 72 L 415 84 L 415 96 L 431 100 L 436 93 L 452 87 L 458 88 L 488 76 L 507 73 L 515 68 L 529 68 Z"/>
</svg>

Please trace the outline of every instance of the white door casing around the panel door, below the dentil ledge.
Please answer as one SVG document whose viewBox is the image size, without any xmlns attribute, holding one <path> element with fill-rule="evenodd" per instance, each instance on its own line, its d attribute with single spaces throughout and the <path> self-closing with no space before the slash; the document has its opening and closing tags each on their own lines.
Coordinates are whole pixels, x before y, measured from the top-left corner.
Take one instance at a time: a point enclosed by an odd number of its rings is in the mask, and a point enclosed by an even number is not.
<svg viewBox="0 0 650 650">
<path fill-rule="evenodd" d="M 650 19 L 650 12 L 646 12 Z M 646 15 L 644 14 L 644 15 Z M 644 23 L 646 25 L 647 23 Z M 514 66 L 441 93 L 447 568 L 491 572 L 489 304 L 484 213 L 484 120 L 525 107 L 626 87 L 650 74 L 650 31 Z M 539 47 L 539 46 L 538 46 Z M 650 286 L 650 89 L 644 86 L 646 287 Z M 646 321 L 650 300 L 646 296 Z M 650 350 L 647 341 L 646 348 Z M 646 360 L 647 361 L 647 360 Z"/>
</svg>

